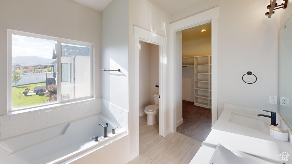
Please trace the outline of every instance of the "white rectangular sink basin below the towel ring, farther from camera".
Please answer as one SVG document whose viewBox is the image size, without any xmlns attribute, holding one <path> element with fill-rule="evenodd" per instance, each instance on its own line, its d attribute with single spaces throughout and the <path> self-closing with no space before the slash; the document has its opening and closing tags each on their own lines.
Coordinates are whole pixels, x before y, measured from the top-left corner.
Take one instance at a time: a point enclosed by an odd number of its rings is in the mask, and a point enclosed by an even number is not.
<svg viewBox="0 0 292 164">
<path fill-rule="evenodd" d="M 228 122 L 265 132 L 263 120 L 253 116 L 231 113 Z"/>
</svg>

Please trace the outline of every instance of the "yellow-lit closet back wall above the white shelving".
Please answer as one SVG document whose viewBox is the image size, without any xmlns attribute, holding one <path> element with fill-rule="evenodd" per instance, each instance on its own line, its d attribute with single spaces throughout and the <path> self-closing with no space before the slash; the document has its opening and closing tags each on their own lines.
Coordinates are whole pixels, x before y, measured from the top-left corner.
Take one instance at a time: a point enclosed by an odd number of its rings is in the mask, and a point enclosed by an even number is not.
<svg viewBox="0 0 292 164">
<path fill-rule="evenodd" d="M 211 38 L 183 42 L 183 57 L 211 55 Z"/>
</svg>

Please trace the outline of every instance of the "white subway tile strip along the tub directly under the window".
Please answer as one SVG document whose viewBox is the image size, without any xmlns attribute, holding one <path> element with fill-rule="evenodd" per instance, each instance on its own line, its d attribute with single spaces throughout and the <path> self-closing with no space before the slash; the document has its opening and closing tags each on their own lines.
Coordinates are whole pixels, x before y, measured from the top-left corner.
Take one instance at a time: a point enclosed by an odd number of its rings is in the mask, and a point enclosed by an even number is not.
<svg viewBox="0 0 292 164">
<path fill-rule="evenodd" d="M 88 99 L 0 116 L 0 140 L 100 113 L 101 99 Z M 51 107 L 54 106 L 54 107 Z M 21 113 L 23 112 L 23 113 Z"/>
</svg>

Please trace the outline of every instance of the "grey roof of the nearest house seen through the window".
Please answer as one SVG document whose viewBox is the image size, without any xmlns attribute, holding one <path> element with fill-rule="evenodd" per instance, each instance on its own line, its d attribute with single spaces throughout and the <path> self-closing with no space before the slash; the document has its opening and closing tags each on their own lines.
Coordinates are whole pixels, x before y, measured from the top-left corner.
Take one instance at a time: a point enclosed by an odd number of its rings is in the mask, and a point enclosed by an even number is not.
<svg viewBox="0 0 292 164">
<path fill-rule="evenodd" d="M 71 57 L 71 56 L 90 56 L 90 47 L 79 47 L 79 46 L 70 46 L 70 45 L 63 44 L 62 57 Z M 57 59 L 57 44 L 54 44 L 52 59 Z"/>
</svg>

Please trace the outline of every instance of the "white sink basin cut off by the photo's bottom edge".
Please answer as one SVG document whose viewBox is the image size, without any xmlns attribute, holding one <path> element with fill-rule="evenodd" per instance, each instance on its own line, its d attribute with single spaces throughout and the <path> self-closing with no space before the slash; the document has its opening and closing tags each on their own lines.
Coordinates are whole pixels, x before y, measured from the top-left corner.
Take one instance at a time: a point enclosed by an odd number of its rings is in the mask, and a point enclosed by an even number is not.
<svg viewBox="0 0 292 164">
<path fill-rule="evenodd" d="M 218 144 L 209 164 L 272 164 L 266 160 L 256 158 L 237 149 Z"/>
</svg>

